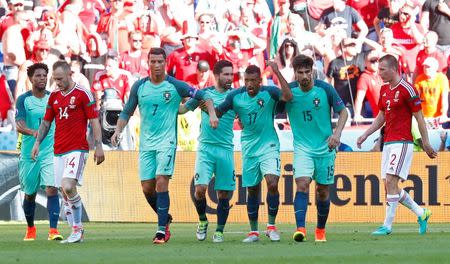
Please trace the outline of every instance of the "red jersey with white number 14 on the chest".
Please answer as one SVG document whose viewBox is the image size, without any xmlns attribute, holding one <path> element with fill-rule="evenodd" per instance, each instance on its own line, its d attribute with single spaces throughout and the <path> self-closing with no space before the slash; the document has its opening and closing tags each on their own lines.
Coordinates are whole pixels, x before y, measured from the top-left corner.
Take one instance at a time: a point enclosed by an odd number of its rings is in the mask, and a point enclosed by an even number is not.
<svg viewBox="0 0 450 264">
<path fill-rule="evenodd" d="M 59 89 L 53 91 L 44 120 L 52 122 L 55 119 L 55 155 L 74 150 L 88 151 L 87 122 L 97 117 L 94 97 L 78 84 L 65 95 Z"/>
</svg>

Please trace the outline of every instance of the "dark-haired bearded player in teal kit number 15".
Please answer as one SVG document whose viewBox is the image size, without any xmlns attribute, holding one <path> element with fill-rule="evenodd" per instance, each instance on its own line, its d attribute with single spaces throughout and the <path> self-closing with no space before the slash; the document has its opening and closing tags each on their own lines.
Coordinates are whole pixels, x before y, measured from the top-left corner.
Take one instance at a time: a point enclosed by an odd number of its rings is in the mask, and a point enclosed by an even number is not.
<svg viewBox="0 0 450 264">
<path fill-rule="evenodd" d="M 325 242 L 325 224 L 330 211 L 329 186 L 334 183 L 336 148 L 348 118 L 347 109 L 336 90 L 313 79 L 314 61 L 305 55 L 293 60 L 294 82 L 289 84 L 292 100 L 286 111 L 294 136 L 294 178 L 296 193 L 294 212 L 297 230 L 294 240 L 306 240 L 305 217 L 309 185 L 316 181 L 317 227 L 315 241 Z M 339 114 L 336 128 L 331 126 L 332 111 Z"/>
</svg>

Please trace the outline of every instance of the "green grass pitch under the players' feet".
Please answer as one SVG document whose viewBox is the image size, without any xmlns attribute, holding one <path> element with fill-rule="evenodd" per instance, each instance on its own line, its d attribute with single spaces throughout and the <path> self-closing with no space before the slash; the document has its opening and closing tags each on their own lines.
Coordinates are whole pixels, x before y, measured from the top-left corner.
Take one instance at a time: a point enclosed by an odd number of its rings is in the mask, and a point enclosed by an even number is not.
<svg viewBox="0 0 450 264">
<path fill-rule="evenodd" d="M 261 225 L 262 226 L 262 225 Z M 417 225 L 395 224 L 388 237 L 372 237 L 374 224 L 329 224 L 326 243 L 314 242 L 314 224 L 308 225 L 308 241 L 292 240 L 294 227 L 279 225 L 281 242 L 265 236 L 258 243 L 241 240 L 247 225 L 229 224 L 225 242 L 195 238 L 196 224 L 172 224 L 172 238 L 153 245 L 154 223 L 87 223 L 85 241 L 59 244 L 47 241 L 47 224 L 38 224 L 36 241 L 24 242 L 25 223 L 0 224 L 0 263 L 450 263 L 450 224 L 430 224 L 419 235 Z M 67 235 L 65 223 L 60 231 Z"/>
</svg>

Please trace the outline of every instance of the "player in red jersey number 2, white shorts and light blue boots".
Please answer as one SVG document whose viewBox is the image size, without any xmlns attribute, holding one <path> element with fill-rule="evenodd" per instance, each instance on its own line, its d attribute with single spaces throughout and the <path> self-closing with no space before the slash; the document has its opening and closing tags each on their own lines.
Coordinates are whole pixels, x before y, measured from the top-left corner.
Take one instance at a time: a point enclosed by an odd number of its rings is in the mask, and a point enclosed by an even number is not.
<svg viewBox="0 0 450 264">
<path fill-rule="evenodd" d="M 423 150 L 428 157 L 435 158 L 428 139 L 428 132 L 423 119 L 421 102 L 417 90 L 406 82 L 398 73 L 398 61 L 392 55 L 380 59 L 379 74 L 385 84 L 381 87 L 378 107 L 380 112 L 372 125 L 358 138 L 361 144 L 373 132 L 385 124 L 384 148 L 381 161 L 381 177 L 386 188 L 386 217 L 384 224 L 372 235 L 389 235 L 392 232 L 392 222 L 399 203 L 409 208 L 417 215 L 419 234 L 427 231 L 428 219 L 431 211 L 420 207 L 409 194 L 400 189 L 398 182 L 408 178 L 413 153 L 413 137 L 411 135 L 412 116 L 416 118 L 422 136 Z"/>
</svg>

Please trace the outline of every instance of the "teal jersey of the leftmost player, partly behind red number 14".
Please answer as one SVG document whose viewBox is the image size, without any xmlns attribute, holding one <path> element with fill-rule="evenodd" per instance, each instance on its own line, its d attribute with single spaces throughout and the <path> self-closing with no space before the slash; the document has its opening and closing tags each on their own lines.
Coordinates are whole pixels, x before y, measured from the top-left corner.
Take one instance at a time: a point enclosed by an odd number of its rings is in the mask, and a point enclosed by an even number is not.
<svg viewBox="0 0 450 264">
<path fill-rule="evenodd" d="M 33 93 L 31 91 L 28 91 L 19 96 L 16 102 L 16 121 L 24 120 L 28 128 L 38 130 L 39 126 L 41 125 L 42 119 L 44 118 L 49 96 L 50 93 L 46 92 L 43 98 L 37 98 L 33 96 Z M 43 160 L 45 158 L 53 156 L 54 133 L 55 122 L 52 122 L 47 136 L 41 142 L 38 156 L 39 159 Z M 31 160 L 31 150 L 33 149 L 35 141 L 35 137 L 31 135 L 23 135 L 22 148 L 20 150 L 21 159 Z"/>
</svg>

